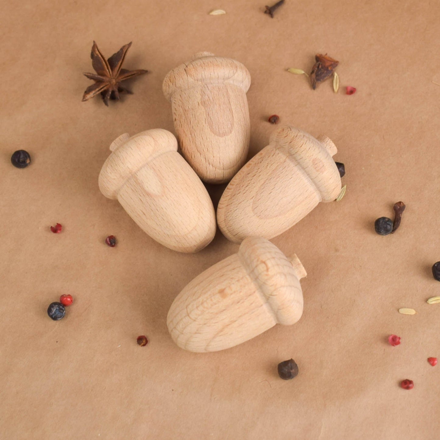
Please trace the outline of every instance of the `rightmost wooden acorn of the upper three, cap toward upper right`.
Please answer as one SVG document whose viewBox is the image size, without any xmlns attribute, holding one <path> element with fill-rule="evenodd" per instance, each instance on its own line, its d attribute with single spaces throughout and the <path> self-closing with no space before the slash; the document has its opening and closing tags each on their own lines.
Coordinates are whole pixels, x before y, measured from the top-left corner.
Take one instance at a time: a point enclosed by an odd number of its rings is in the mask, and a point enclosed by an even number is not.
<svg viewBox="0 0 440 440">
<path fill-rule="evenodd" d="M 290 125 L 277 128 L 226 187 L 217 208 L 224 236 L 239 243 L 256 235 L 273 238 L 341 191 L 332 156 L 334 143 Z"/>
</svg>

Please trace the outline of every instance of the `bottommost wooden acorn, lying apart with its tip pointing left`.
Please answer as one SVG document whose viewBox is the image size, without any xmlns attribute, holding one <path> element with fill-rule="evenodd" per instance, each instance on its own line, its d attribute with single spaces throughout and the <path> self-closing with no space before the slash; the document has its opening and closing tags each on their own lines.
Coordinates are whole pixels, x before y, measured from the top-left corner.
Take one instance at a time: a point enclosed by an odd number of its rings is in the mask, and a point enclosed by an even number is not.
<svg viewBox="0 0 440 440">
<path fill-rule="evenodd" d="M 176 344 L 191 352 L 233 347 L 301 318 L 300 279 L 306 271 L 264 238 L 248 237 L 238 253 L 194 278 L 176 297 L 167 325 Z"/>
</svg>

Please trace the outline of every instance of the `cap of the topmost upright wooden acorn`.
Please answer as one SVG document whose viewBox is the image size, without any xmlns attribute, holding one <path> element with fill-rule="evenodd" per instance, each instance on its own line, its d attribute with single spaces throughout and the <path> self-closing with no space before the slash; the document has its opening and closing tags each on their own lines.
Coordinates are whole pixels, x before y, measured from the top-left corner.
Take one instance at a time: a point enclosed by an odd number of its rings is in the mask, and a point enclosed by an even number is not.
<svg viewBox="0 0 440 440">
<path fill-rule="evenodd" d="M 170 101 L 176 90 L 224 82 L 235 84 L 246 93 L 250 87 L 249 70 L 233 59 L 216 57 L 211 52 L 198 52 L 191 61 L 180 64 L 166 74 L 162 91 Z"/>
</svg>

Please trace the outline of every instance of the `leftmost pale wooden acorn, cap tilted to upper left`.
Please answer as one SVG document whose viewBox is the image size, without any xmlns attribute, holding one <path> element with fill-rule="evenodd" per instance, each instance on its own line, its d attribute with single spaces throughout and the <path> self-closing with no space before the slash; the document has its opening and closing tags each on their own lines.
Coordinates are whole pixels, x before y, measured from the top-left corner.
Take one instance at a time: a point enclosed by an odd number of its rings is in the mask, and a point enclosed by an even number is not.
<svg viewBox="0 0 440 440">
<path fill-rule="evenodd" d="M 119 136 L 99 173 L 99 189 L 117 199 L 151 238 L 178 252 L 197 252 L 216 232 L 213 203 L 197 174 L 160 128 Z"/>
</svg>

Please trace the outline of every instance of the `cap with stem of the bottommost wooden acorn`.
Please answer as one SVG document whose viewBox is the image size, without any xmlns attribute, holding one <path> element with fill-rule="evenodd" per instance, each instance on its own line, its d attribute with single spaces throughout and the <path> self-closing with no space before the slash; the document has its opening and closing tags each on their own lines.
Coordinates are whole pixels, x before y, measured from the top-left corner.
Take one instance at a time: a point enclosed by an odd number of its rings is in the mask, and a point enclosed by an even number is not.
<svg viewBox="0 0 440 440">
<path fill-rule="evenodd" d="M 296 255 L 287 258 L 269 240 L 247 237 L 238 250 L 243 268 L 264 295 L 277 323 L 291 325 L 301 318 L 300 279 L 307 275 Z"/>
</svg>

